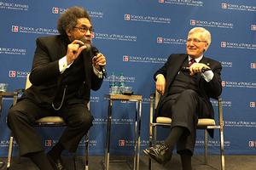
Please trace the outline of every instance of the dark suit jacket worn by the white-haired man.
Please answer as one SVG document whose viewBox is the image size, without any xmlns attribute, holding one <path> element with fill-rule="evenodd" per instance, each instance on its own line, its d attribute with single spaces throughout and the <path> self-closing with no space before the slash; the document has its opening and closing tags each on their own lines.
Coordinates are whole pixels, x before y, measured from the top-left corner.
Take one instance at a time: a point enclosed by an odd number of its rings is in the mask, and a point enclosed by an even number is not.
<svg viewBox="0 0 256 170">
<path fill-rule="evenodd" d="M 168 93 L 168 88 L 172 86 L 173 80 L 177 76 L 178 71 L 181 70 L 183 62 L 187 58 L 188 58 L 188 54 L 171 54 L 170 57 L 167 59 L 166 64 L 154 73 L 154 81 L 156 81 L 155 77 L 158 74 L 162 74 L 164 75 L 164 77 L 166 77 L 165 94 L 160 98 L 160 102 L 156 111 L 157 114 L 162 104 L 161 101 L 166 97 Z M 199 95 L 201 99 L 206 101 L 205 103 L 207 104 L 207 110 L 204 110 L 203 112 L 205 113 L 205 115 L 208 115 L 211 118 L 213 118 L 214 112 L 213 112 L 212 104 L 210 102 L 210 98 L 217 99 L 218 96 L 221 94 L 222 85 L 221 85 L 220 71 L 222 69 L 222 66 L 218 61 L 209 59 L 207 57 L 203 57 L 200 63 L 204 63 L 208 65 L 214 73 L 214 77 L 210 82 L 207 82 L 203 77 L 200 77 L 197 82 L 200 90 Z"/>
</svg>

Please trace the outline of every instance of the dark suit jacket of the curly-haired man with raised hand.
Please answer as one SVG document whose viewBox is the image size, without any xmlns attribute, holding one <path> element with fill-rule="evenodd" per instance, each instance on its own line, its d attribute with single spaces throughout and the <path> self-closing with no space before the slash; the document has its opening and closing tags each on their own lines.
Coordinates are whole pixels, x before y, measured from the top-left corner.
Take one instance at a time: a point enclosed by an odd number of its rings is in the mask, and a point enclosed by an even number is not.
<svg viewBox="0 0 256 170">
<path fill-rule="evenodd" d="M 21 99 L 28 98 L 42 106 L 49 106 L 55 98 L 61 73 L 59 59 L 67 54 L 67 37 L 61 35 L 39 37 L 32 63 L 30 81 L 32 87 L 26 89 Z M 79 57 L 84 61 L 83 100 L 90 99 L 90 89 L 97 90 L 102 85 L 102 78 L 96 77 L 92 68 L 92 52 L 84 50 Z M 82 99 L 73 99 L 81 102 Z"/>
</svg>

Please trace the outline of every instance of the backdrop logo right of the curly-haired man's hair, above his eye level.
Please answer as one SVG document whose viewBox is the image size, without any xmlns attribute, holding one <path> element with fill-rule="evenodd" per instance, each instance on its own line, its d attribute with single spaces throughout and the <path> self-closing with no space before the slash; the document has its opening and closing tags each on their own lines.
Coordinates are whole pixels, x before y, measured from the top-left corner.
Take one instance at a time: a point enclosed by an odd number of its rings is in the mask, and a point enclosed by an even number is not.
<svg viewBox="0 0 256 170">
<path fill-rule="evenodd" d="M 139 21 L 139 22 L 153 22 L 153 23 L 162 23 L 170 24 L 170 18 L 158 17 L 158 16 L 143 16 L 135 14 L 125 14 L 125 20 L 127 21 Z"/>
</svg>

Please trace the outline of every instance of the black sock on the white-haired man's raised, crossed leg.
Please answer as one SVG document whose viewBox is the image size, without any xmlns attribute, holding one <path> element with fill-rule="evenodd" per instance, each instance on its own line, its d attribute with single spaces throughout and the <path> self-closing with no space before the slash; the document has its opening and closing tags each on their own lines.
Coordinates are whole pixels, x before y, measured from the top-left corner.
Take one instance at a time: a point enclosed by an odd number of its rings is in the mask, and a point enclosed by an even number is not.
<svg viewBox="0 0 256 170">
<path fill-rule="evenodd" d="M 165 140 L 165 144 L 167 144 L 170 149 L 173 149 L 174 145 L 177 144 L 177 140 L 183 135 L 185 129 L 185 127 L 172 127 L 172 131 Z"/>
</svg>

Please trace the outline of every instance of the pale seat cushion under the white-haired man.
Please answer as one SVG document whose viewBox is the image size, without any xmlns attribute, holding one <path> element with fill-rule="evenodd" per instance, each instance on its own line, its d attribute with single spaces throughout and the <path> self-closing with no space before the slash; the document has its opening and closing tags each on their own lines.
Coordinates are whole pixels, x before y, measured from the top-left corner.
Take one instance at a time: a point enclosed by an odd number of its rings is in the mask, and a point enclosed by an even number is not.
<svg viewBox="0 0 256 170">
<path fill-rule="evenodd" d="M 158 116 L 156 118 L 157 123 L 172 123 L 172 119 L 169 117 L 164 117 L 164 116 Z M 209 118 L 201 118 L 198 119 L 197 126 L 198 127 L 205 127 L 205 126 L 214 126 L 215 125 L 215 120 L 214 119 L 209 119 Z"/>
</svg>

